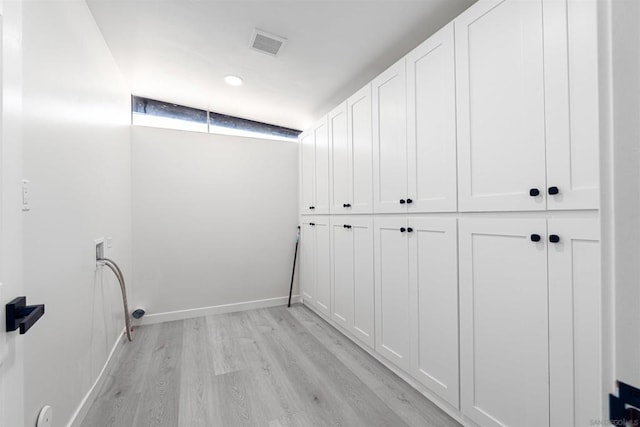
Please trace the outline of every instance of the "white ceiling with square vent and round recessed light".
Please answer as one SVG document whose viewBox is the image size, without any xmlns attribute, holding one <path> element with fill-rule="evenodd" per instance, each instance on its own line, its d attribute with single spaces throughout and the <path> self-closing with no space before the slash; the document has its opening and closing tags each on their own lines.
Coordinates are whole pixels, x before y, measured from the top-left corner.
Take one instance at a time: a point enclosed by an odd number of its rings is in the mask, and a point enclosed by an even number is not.
<svg viewBox="0 0 640 427">
<path fill-rule="evenodd" d="M 134 95 L 305 129 L 474 1 L 87 3 Z M 278 57 L 254 27 L 288 39 Z"/>
</svg>

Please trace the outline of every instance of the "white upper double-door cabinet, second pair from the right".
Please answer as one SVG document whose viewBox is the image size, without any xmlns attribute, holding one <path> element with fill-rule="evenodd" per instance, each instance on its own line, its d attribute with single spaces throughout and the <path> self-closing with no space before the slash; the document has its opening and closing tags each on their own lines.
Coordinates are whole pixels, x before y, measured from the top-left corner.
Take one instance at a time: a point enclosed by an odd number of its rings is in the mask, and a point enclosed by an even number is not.
<svg viewBox="0 0 640 427">
<path fill-rule="evenodd" d="M 455 212 L 453 24 L 372 83 L 376 213 Z"/>
</svg>

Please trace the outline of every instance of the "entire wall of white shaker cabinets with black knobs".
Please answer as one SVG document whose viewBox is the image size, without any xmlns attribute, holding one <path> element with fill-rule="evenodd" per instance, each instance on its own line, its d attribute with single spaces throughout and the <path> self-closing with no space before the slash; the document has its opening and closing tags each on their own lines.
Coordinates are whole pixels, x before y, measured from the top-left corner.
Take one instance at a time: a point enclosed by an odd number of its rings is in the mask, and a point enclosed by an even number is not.
<svg viewBox="0 0 640 427">
<path fill-rule="evenodd" d="M 465 424 L 605 418 L 597 18 L 479 0 L 300 138 L 304 303 Z"/>
</svg>

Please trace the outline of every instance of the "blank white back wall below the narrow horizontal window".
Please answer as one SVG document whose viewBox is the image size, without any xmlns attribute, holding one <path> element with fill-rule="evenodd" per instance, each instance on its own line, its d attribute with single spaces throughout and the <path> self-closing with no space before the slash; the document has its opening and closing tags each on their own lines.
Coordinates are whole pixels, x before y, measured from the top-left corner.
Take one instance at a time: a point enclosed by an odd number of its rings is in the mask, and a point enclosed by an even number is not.
<svg viewBox="0 0 640 427">
<path fill-rule="evenodd" d="M 132 128 L 133 301 L 149 314 L 289 293 L 298 144 Z"/>
</svg>

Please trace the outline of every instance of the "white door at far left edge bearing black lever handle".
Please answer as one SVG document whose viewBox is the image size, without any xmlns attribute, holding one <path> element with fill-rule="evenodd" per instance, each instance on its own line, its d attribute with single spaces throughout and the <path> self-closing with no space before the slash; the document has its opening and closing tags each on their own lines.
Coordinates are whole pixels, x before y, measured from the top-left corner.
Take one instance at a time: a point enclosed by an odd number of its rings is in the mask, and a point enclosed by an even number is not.
<svg viewBox="0 0 640 427">
<path fill-rule="evenodd" d="M 0 176 L 0 324 L 4 306 L 22 287 L 22 2 L 2 1 L 2 152 Z M 0 336 L 0 426 L 24 424 L 24 340 L 15 333 Z"/>
</svg>

